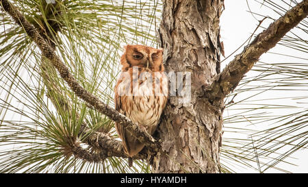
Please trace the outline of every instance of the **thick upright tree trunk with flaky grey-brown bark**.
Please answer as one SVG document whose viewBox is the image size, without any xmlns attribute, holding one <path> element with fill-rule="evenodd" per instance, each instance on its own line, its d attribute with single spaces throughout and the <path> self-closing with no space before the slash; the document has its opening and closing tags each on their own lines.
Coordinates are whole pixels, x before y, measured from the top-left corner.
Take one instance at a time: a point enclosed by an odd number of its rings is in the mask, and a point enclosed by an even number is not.
<svg viewBox="0 0 308 187">
<path fill-rule="evenodd" d="M 154 158 L 155 173 L 220 172 L 223 101 L 209 101 L 198 92 L 220 71 L 222 8 L 223 0 L 164 1 L 159 37 L 166 71 L 183 73 L 183 87 L 191 75 L 192 84 L 190 98 L 180 96 L 180 85 L 166 105 L 158 128 L 162 147 Z M 188 87 L 183 91 L 190 92 Z"/>
</svg>

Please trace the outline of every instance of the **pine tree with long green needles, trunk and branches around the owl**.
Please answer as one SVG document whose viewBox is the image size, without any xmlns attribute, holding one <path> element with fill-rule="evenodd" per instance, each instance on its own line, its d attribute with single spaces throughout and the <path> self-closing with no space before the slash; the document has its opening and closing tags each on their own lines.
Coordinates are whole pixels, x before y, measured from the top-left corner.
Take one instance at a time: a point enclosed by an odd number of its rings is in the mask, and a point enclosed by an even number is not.
<svg viewBox="0 0 308 187">
<path fill-rule="evenodd" d="M 258 62 L 277 43 L 307 53 L 305 38 L 290 32 L 307 33 L 307 0 L 290 1 L 289 10 L 261 2 L 280 18 L 266 17 L 271 25 L 252 35 L 224 68 L 222 0 L 0 2 L 0 172 L 229 173 L 231 162 L 265 172 L 307 147 L 307 108 L 279 116 L 246 108 L 245 116 L 224 117 L 227 108 L 244 103 L 233 101 L 242 93 L 307 86 L 307 58 L 298 64 Z M 166 71 L 183 73 L 178 77 L 183 90 L 177 85 L 153 137 L 114 110 L 125 43 L 164 48 Z M 251 70 L 260 73 L 246 78 Z M 277 81 L 280 85 L 274 85 Z M 268 84 L 251 88 L 251 82 Z M 243 120 L 274 126 L 239 129 L 236 123 Z M 131 168 L 114 121 L 146 144 Z M 224 139 L 229 130 L 248 136 Z"/>
</svg>

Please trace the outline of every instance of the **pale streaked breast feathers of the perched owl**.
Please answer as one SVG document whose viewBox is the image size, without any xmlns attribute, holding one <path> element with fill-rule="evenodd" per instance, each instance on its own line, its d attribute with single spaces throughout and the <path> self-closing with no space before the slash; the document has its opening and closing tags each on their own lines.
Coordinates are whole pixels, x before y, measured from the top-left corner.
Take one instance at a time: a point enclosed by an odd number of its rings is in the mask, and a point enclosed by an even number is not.
<svg viewBox="0 0 308 187">
<path fill-rule="evenodd" d="M 158 78 L 160 79 L 161 77 Z M 166 82 L 168 84 L 166 77 L 162 77 L 161 81 L 156 85 L 157 87 L 153 82 L 144 80 L 140 80 L 138 85 L 133 85 L 131 82 L 123 80 L 118 85 L 118 92 L 122 92 L 123 95 L 120 96 L 121 103 L 126 105 L 126 107 L 122 108 L 122 111 L 131 121 L 145 127 L 150 134 L 155 131 L 166 104 L 168 94 Z M 159 90 L 155 91 L 155 89 Z"/>
</svg>

